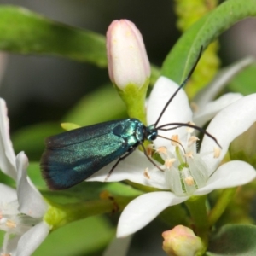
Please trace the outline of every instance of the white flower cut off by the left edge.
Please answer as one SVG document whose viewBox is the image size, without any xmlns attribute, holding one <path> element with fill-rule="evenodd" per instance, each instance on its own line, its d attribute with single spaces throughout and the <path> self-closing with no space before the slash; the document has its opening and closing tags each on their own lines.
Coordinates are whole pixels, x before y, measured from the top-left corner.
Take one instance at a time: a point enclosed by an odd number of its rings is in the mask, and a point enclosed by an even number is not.
<svg viewBox="0 0 256 256">
<path fill-rule="evenodd" d="M 17 190 L 0 183 L 0 229 L 6 231 L 0 252 L 28 256 L 49 234 L 50 226 L 43 220 L 48 205 L 27 177 L 26 154 L 20 152 L 15 156 L 3 99 L 0 99 L 0 140 L 1 170 L 17 183 Z"/>
</svg>

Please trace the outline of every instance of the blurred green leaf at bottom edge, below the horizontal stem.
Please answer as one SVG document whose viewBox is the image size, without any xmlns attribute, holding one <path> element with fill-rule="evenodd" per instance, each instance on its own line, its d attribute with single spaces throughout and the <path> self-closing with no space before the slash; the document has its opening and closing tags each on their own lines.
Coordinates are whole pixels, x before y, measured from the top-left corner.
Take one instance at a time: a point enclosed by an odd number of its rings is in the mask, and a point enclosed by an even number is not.
<svg viewBox="0 0 256 256">
<path fill-rule="evenodd" d="M 101 255 L 114 232 L 105 218 L 85 218 L 52 232 L 32 256 Z"/>
</svg>

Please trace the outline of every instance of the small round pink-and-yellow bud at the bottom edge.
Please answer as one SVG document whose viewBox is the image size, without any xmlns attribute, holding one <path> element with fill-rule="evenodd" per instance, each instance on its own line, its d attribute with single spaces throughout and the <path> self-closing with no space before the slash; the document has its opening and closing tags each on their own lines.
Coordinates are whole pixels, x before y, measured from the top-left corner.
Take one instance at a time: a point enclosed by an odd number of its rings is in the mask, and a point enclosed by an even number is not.
<svg viewBox="0 0 256 256">
<path fill-rule="evenodd" d="M 193 230 L 177 225 L 172 230 L 163 232 L 163 250 L 171 256 L 195 256 L 203 245 L 201 238 Z"/>
</svg>

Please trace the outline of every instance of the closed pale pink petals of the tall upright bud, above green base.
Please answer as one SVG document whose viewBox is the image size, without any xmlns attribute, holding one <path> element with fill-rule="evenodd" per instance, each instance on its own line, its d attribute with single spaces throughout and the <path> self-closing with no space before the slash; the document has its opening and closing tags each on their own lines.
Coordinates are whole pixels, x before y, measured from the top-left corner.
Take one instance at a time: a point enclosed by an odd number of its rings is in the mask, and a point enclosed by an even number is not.
<svg viewBox="0 0 256 256">
<path fill-rule="evenodd" d="M 150 65 L 143 37 L 129 20 L 113 20 L 107 32 L 108 73 L 113 84 L 143 86 L 150 76 Z"/>
</svg>

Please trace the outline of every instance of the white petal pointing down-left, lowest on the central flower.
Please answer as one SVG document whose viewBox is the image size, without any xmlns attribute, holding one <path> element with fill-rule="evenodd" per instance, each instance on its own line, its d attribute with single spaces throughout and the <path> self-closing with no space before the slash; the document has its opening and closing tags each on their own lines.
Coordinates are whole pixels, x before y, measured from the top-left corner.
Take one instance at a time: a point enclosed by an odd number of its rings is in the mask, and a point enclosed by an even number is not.
<svg viewBox="0 0 256 256">
<path fill-rule="evenodd" d="M 177 205 L 189 197 L 177 197 L 172 192 L 151 192 L 131 201 L 119 218 L 117 237 L 129 236 L 142 229 L 166 207 Z"/>
</svg>

